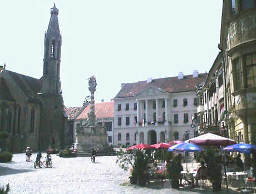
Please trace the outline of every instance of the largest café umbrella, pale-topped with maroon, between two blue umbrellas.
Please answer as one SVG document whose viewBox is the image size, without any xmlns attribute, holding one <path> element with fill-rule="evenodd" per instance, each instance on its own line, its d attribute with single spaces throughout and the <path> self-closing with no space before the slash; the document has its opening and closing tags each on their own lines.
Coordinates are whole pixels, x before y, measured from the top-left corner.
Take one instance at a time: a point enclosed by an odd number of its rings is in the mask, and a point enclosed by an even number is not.
<svg viewBox="0 0 256 194">
<path fill-rule="evenodd" d="M 229 146 L 237 143 L 234 140 L 217 136 L 213 133 L 206 133 L 204 135 L 191 138 L 190 140 L 186 140 L 185 142 L 195 143 L 199 146 Z"/>
</svg>

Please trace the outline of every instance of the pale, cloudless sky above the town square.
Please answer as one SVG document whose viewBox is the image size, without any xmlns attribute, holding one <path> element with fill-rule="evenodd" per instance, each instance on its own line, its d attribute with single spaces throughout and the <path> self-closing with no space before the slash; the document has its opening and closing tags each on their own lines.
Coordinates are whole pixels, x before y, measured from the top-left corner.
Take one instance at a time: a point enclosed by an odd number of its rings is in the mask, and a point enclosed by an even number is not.
<svg viewBox="0 0 256 194">
<path fill-rule="evenodd" d="M 42 77 L 54 3 L 67 107 L 82 106 L 91 76 L 95 101 L 109 102 L 121 83 L 209 72 L 219 53 L 221 0 L 8 0 L 0 2 L 0 65 Z"/>
</svg>

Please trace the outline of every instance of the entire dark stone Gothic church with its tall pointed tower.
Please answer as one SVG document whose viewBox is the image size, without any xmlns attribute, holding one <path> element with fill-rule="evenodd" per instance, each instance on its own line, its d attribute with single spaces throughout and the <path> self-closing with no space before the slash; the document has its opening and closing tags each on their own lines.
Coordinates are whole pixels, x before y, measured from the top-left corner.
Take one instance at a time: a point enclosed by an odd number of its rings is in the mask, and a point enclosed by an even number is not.
<svg viewBox="0 0 256 194">
<path fill-rule="evenodd" d="M 7 146 L 21 152 L 62 148 L 67 116 L 60 84 L 61 34 L 58 9 L 51 8 L 45 33 L 43 76 L 32 78 L 0 66 L 0 131 L 9 133 Z"/>
</svg>

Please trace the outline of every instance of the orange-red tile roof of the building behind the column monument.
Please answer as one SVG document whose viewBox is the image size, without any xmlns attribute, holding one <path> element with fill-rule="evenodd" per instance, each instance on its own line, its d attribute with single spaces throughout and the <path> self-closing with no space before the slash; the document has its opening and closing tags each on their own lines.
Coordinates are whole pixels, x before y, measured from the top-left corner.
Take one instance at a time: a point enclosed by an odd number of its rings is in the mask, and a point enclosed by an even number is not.
<svg viewBox="0 0 256 194">
<path fill-rule="evenodd" d="M 85 109 L 76 117 L 76 120 L 88 118 L 87 113 L 90 112 L 90 103 Z M 114 117 L 114 101 L 95 103 L 96 118 L 112 118 Z"/>
</svg>

